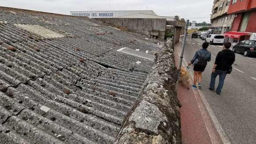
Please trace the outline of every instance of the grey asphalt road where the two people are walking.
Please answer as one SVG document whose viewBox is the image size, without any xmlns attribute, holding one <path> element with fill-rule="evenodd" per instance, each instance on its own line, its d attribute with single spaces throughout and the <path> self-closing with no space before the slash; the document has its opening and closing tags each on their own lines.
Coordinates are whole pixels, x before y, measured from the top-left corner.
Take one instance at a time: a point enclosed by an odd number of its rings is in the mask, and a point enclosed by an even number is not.
<svg viewBox="0 0 256 144">
<path fill-rule="evenodd" d="M 187 36 L 184 59 L 189 62 L 202 47 L 200 38 Z M 208 90 L 216 55 L 223 46 L 209 45 L 212 59 L 202 75 L 202 90 L 224 133 L 232 144 L 256 144 L 256 58 L 236 54 L 231 74 L 228 74 L 222 94 Z M 179 49 L 181 51 L 181 49 Z M 192 68 L 193 69 L 193 68 Z M 192 70 L 193 71 L 193 70 Z M 218 77 L 216 79 L 216 88 Z"/>
</svg>

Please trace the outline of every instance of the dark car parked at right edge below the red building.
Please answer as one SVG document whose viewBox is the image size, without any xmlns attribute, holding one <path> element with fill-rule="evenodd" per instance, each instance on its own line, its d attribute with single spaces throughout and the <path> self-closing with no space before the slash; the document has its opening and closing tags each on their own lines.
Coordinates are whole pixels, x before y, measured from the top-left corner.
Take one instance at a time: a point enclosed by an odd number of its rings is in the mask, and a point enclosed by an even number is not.
<svg viewBox="0 0 256 144">
<path fill-rule="evenodd" d="M 243 40 L 234 45 L 234 52 L 243 53 L 244 56 L 256 56 L 256 41 Z"/>
</svg>

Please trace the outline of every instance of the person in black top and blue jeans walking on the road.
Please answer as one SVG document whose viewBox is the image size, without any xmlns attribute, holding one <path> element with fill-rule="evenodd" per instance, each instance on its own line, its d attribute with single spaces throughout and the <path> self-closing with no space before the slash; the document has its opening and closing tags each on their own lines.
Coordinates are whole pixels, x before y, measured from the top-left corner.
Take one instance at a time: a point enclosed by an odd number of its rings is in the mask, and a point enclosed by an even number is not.
<svg viewBox="0 0 256 144">
<path fill-rule="evenodd" d="M 214 63 L 214 67 L 211 73 L 211 82 L 209 90 L 214 90 L 215 79 L 219 75 L 219 84 L 216 89 L 218 95 L 221 94 L 221 89 L 224 85 L 224 80 L 227 74 L 231 73 L 232 64 L 235 61 L 235 54 L 229 48 L 231 47 L 230 42 L 225 42 L 223 50 L 218 53 Z"/>
</svg>

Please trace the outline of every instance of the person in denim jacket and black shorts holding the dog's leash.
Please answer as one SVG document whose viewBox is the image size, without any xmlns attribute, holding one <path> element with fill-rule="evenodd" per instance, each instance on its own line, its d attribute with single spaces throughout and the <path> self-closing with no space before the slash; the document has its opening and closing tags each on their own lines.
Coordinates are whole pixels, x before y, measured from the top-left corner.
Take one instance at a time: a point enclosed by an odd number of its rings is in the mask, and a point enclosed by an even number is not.
<svg viewBox="0 0 256 144">
<path fill-rule="evenodd" d="M 211 61 L 211 52 L 207 50 L 209 44 L 207 42 L 204 42 L 202 45 L 202 49 L 195 52 L 195 56 L 193 59 L 189 62 L 189 65 L 194 65 L 194 85 L 192 85 L 193 89 L 197 89 L 196 83 L 198 82 L 198 87 L 202 88 L 201 82 L 202 82 L 202 72 L 205 70 L 205 67 L 207 65 L 207 61 Z"/>
</svg>

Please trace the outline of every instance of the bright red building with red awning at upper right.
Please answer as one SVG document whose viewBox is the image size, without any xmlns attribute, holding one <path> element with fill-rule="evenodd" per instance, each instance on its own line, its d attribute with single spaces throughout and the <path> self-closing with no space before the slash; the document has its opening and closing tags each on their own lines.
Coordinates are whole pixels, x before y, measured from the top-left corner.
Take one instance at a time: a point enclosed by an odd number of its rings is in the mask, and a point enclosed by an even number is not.
<svg viewBox="0 0 256 144">
<path fill-rule="evenodd" d="M 256 40 L 256 0 L 231 0 L 227 14 L 234 15 L 230 32 L 224 34 L 230 42 Z"/>
</svg>

